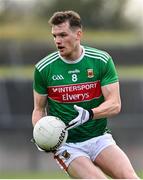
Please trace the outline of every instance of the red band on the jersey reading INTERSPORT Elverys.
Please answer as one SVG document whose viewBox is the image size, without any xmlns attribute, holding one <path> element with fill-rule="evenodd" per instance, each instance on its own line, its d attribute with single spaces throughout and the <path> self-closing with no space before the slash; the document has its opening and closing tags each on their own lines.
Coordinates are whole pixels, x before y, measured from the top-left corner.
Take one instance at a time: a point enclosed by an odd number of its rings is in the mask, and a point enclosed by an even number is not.
<svg viewBox="0 0 143 180">
<path fill-rule="evenodd" d="M 100 96 L 100 81 L 48 87 L 48 97 L 61 103 L 89 101 Z"/>
</svg>

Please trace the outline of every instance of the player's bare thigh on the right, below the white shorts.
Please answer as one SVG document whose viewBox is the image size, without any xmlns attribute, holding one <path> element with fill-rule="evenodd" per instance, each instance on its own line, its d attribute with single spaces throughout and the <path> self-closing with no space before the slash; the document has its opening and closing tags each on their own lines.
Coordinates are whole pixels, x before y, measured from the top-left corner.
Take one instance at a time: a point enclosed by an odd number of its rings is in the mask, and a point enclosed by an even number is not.
<svg viewBox="0 0 143 180">
<path fill-rule="evenodd" d="M 137 178 L 128 157 L 117 145 L 101 151 L 94 163 L 112 178 Z"/>
</svg>

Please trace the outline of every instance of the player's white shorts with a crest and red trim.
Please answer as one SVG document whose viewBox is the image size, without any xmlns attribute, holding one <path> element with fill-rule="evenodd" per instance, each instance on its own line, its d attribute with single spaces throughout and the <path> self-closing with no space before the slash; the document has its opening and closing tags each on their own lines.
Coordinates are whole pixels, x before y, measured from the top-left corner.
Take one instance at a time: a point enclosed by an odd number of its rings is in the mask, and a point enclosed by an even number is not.
<svg viewBox="0 0 143 180">
<path fill-rule="evenodd" d="M 54 154 L 54 159 L 62 169 L 67 171 L 69 164 L 77 157 L 84 156 L 94 161 L 103 149 L 112 144 L 116 143 L 109 133 L 84 142 L 65 143 Z"/>
</svg>

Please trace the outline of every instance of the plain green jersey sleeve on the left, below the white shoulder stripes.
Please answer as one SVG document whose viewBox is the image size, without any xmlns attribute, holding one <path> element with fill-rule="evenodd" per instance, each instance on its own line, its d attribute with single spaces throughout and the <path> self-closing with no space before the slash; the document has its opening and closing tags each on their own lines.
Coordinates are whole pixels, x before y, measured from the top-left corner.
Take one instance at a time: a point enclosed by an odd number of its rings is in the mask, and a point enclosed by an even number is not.
<svg viewBox="0 0 143 180">
<path fill-rule="evenodd" d="M 47 87 L 43 81 L 41 73 L 37 70 L 37 68 L 35 68 L 34 71 L 33 89 L 39 94 L 47 94 Z"/>
</svg>

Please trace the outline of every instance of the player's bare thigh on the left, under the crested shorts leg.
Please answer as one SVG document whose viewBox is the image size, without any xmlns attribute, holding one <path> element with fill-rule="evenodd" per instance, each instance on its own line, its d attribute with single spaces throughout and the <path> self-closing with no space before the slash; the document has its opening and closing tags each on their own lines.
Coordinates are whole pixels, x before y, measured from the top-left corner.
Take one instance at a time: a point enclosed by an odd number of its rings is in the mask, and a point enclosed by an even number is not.
<svg viewBox="0 0 143 180">
<path fill-rule="evenodd" d="M 68 174 L 79 179 L 106 179 L 104 173 L 84 156 L 74 159 L 68 166 Z"/>
</svg>

